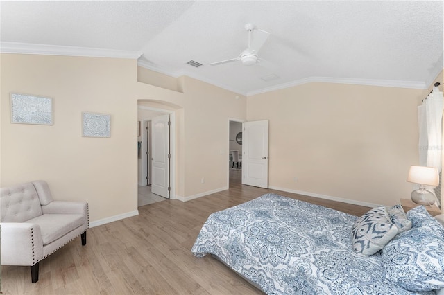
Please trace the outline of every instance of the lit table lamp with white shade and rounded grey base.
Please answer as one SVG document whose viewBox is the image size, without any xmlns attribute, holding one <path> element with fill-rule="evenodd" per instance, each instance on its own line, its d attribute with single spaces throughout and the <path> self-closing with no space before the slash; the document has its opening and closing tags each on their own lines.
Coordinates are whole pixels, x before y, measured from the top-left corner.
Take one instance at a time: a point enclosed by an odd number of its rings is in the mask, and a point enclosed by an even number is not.
<svg viewBox="0 0 444 295">
<path fill-rule="evenodd" d="M 424 166 L 410 166 L 407 181 L 413 184 L 419 184 L 418 190 L 411 192 L 411 200 L 416 204 L 432 206 L 436 202 L 434 193 L 425 189 L 427 186 L 438 186 L 438 169 Z"/>
</svg>

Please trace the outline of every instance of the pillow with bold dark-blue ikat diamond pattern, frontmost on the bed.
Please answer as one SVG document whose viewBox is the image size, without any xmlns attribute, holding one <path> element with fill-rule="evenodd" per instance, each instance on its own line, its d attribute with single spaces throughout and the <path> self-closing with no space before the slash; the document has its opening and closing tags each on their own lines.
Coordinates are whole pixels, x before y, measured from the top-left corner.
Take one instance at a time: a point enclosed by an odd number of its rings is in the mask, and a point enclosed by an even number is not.
<svg viewBox="0 0 444 295">
<path fill-rule="evenodd" d="M 386 213 L 385 206 L 371 209 L 359 217 L 352 227 L 352 246 L 356 253 L 373 255 L 398 233 Z"/>
</svg>

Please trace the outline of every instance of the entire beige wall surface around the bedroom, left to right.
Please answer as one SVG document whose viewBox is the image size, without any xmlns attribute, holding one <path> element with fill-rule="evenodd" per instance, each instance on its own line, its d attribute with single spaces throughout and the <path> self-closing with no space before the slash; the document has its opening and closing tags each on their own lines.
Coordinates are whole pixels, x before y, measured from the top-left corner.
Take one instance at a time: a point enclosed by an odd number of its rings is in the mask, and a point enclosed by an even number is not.
<svg viewBox="0 0 444 295">
<path fill-rule="evenodd" d="M 0 57 L 0 185 L 45 179 L 56 199 L 89 202 L 91 222 L 137 213 L 138 103 L 176 110 L 182 199 L 226 188 L 228 118 L 270 120 L 276 188 L 372 204 L 394 204 L 411 191 L 416 106 L 429 90 L 311 83 L 236 99 L 185 76 L 175 78 L 180 91 L 137 82 L 135 60 Z M 54 125 L 10 123 L 10 92 L 53 98 Z M 83 138 L 82 111 L 111 114 L 111 137 Z"/>
</svg>

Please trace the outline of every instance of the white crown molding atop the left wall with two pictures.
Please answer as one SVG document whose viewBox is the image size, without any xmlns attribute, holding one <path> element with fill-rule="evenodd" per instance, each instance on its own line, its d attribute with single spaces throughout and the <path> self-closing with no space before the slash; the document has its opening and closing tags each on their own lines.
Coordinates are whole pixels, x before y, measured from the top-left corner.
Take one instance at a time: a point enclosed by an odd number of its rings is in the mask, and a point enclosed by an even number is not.
<svg viewBox="0 0 444 295">
<path fill-rule="evenodd" d="M 113 57 L 137 60 L 142 53 L 137 51 L 122 51 L 114 49 L 86 48 L 74 46 L 56 46 L 45 44 L 28 44 L 17 42 L 0 42 L 1 53 L 67 55 L 85 57 Z"/>
</svg>

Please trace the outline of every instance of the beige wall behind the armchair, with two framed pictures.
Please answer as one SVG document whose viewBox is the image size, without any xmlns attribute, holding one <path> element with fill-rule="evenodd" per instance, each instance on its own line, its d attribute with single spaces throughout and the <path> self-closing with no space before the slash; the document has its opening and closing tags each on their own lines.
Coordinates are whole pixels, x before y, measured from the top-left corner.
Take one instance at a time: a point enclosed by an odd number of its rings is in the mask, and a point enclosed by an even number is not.
<svg viewBox="0 0 444 295">
<path fill-rule="evenodd" d="M 89 202 L 89 220 L 137 212 L 136 61 L 1 55 L 1 186 L 48 181 Z M 53 98 L 51 126 L 10 123 L 10 92 Z M 82 137 L 82 111 L 111 115 L 110 138 Z"/>
</svg>

